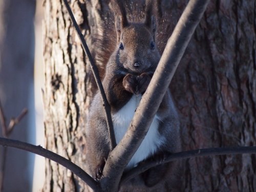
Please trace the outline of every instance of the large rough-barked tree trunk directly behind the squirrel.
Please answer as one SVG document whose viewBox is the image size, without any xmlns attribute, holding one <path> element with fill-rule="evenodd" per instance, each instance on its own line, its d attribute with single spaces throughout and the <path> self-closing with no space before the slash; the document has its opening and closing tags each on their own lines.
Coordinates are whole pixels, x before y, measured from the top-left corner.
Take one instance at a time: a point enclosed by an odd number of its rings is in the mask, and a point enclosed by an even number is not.
<svg viewBox="0 0 256 192">
<path fill-rule="evenodd" d="M 186 3 L 161 1 L 161 51 Z M 108 30 L 113 33 L 109 1 L 80 0 L 70 4 L 97 65 L 103 69 L 108 57 L 99 58 L 111 52 L 112 44 L 97 38 L 108 37 Z M 142 18 L 143 4 L 129 1 L 129 18 Z M 45 144 L 86 169 L 84 126 L 95 83 L 65 6 L 61 1 L 46 0 L 45 7 Z M 255 145 L 255 9 L 254 1 L 210 2 L 170 85 L 180 112 L 184 150 Z M 253 191 L 255 162 L 254 155 L 185 160 L 181 162 L 185 166 L 180 189 Z M 168 191 L 169 186 L 163 183 L 160 187 Z M 69 170 L 47 160 L 45 191 L 87 189 Z"/>
</svg>

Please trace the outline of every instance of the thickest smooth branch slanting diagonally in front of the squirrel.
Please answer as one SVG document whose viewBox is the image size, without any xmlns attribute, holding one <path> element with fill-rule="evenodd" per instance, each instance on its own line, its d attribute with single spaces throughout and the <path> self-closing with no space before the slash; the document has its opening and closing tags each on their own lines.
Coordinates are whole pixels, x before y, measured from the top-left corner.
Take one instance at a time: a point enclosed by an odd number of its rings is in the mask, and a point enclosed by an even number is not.
<svg viewBox="0 0 256 192">
<path fill-rule="evenodd" d="M 112 191 L 117 190 L 115 188 L 117 181 L 120 181 L 124 167 L 144 139 L 208 3 L 209 0 L 190 0 L 186 6 L 172 36 L 168 39 L 158 67 L 142 96 L 129 129 L 106 161 L 102 186 L 114 187 L 110 189 Z"/>
</svg>

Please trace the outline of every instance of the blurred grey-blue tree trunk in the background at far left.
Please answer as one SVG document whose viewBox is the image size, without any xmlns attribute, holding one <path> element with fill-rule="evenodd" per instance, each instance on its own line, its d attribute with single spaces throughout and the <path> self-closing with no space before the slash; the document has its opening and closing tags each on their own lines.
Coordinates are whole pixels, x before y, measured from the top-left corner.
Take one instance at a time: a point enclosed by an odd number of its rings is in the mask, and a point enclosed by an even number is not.
<svg viewBox="0 0 256 192">
<path fill-rule="evenodd" d="M 0 1 L 0 100 L 6 123 L 24 108 L 34 110 L 34 14 L 36 1 Z M 26 11 L 25 11 L 26 10 Z M 33 113 L 29 113 L 33 116 Z M 35 125 L 25 116 L 10 138 L 34 141 Z M 8 124 L 7 124 L 8 126 Z M 31 136 L 31 137 L 28 137 Z M 0 126 L 0 137 L 2 127 Z M 33 180 L 34 156 L 23 151 L 0 147 L 0 166 L 5 160 L 3 191 L 30 191 Z M 1 183 L 0 168 L 0 183 Z M 17 174 L 18 173 L 18 174 Z M 15 184 L 14 184 L 15 183 Z M 1 184 L 0 184 L 1 191 Z"/>
</svg>

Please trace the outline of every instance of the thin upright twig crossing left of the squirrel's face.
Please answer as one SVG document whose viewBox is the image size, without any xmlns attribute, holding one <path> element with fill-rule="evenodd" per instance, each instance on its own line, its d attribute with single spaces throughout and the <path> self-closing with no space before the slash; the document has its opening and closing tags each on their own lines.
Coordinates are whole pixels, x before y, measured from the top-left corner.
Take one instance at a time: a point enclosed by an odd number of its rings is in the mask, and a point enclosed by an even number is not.
<svg viewBox="0 0 256 192">
<path fill-rule="evenodd" d="M 76 30 L 76 32 L 78 34 L 78 37 L 79 37 L 80 41 L 81 41 L 83 51 L 86 52 L 86 54 L 87 54 L 87 56 L 89 58 L 90 65 L 91 65 L 91 68 L 92 68 L 92 72 L 93 72 L 95 81 L 97 83 L 98 89 L 100 91 L 103 108 L 105 110 L 106 124 L 108 125 L 108 131 L 109 131 L 109 137 L 110 137 L 110 149 L 112 151 L 116 147 L 116 138 L 115 138 L 113 122 L 112 122 L 112 118 L 111 118 L 110 104 L 109 104 L 108 100 L 106 99 L 106 95 L 105 95 L 102 83 L 100 81 L 98 69 L 97 69 L 97 67 L 96 67 L 96 65 L 94 63 L 94 60 L 93 60 L 92 55 L 90 53 L 90 50 L 89 50 L 89 48 L 87 46 L 86 40 L 84 39 L 84 37 L 83 37 L 83 35 L 81 33 L 81 30 L 79 29 L 79 27 L 78 27 L 78 25 L 76 23 L 75 17 L 74 17 L 74 15 L 72 13 L 72 10 L 71 10 L 67 0 L 63 0 L 63 2 L 65 3 L 65 6 L 66 6 L 66 8 L 67 8 L 67 10 L 69 12 L 69 16 L 70 16 L 71 22 L 72 22 L 73 26 L 75 27 L 75 30 Z"/>
</svg>

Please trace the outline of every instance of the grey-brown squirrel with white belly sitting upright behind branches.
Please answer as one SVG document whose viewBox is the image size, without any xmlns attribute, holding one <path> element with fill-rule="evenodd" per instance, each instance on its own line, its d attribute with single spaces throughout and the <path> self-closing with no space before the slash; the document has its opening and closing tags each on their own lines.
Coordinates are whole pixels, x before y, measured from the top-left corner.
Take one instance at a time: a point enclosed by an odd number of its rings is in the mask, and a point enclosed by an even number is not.
<svg viewBox="0 0 256 192">
<path fill-rule="evenodd" d="M 106 63 L 102 84 L 111 106 L 115 137 L 119 143 L 130 125 L 161 55 L 156 44 L 157 24 L 152 1 L 146 1 L 145 19 L 140 23 L 127 20 L 123 1 L 111 1 L 111 6 L 115 16 L 117 43 Z M 86 136 L 89 171 L 95 179 L 100 179 L 110 146 L 99 92 L 90 106 Z M 168 90 L 150 129 L 127 164 L 126 170 L 156 154 L 173 153 L 179 148 L 178 114 Z"/>
</svg>

